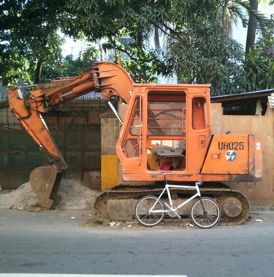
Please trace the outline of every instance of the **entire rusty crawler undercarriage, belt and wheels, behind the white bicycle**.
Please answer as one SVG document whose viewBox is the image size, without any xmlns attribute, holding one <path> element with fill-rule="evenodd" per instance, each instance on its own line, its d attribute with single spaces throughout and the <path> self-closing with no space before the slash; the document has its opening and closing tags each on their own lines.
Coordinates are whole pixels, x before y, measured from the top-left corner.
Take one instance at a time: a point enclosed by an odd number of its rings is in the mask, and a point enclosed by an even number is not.
<svg viewBox="0 0 274 277">
<path fill-rule="evenodd" d="M 135 199 L 138 200 L 142 196 L 145 195 L 156 195 L 159 196 L 162 192 L 163 187 L 138 187 L 134 188 L 132 186 L 119 186 L 115 187 L 112 190 L 109 190 L 107 192 L 102 193 L 95 202 L 95 211 L 96 215 L 99 218 L 102 219 L 112 219 L 117 220 L 116 218 L 120 218 L 119 214 L 111 214 L 107 213 L 107 205 L 108 205 L 108 199 Z M 182 188 L 170 188 L 171 193 L 176 194 L 194 194 L 196 192 L 195 187 L 193 189 L 182 189 Z M 242 192 L 239 192 L 235 189 L 230 189 L 227 187 L 213 187 L 213 188 L 200 188 L 200 192 L 202 196 L 210 196 L 213 199 L 215 199 L 222 210 L 222 220 L 228 224 L 231 225 L 239 225 L 242 222 L 244 222 L 250 211 L 250 204 L 248 199 L 245 197 L 245 195 Z M 228 200 L 227 200 L 228 199 Z M 236 200 L 237 199 L 237 200 Z M 233 201 L 238 203 L 238 210 L 235 209 L 235 205 L 233 206 Z M 114 200 L 113 200 L 114 202 Z M 114 203 L 112 202 L 112 206 L 114 206 Z M 239 204 L 240 202 L 240 204 Z M 102 204 L 104 203 L 104 205 Z M 226 210 L 224 210 L 223 204 L 225 204 Z M 227 206 L 227 203 L 229 204 Z M 239 215 L 237 215 L 237 211 L 239 211 L 239 207 L 242 206 L 242 210 Z M 128 208 L 128 214 L 132 213 L 132 210 L 134 207 L 131 207 L 131 204 L 127 207 Z M 120 208 L 120 210 L 122 210 Z M 116 210 L 119 212 L 119 209 Z M 132 213 L 133 214 L 133 213 Z M 232 216 L 229 216 L 232 215 Z"/>
</svg>

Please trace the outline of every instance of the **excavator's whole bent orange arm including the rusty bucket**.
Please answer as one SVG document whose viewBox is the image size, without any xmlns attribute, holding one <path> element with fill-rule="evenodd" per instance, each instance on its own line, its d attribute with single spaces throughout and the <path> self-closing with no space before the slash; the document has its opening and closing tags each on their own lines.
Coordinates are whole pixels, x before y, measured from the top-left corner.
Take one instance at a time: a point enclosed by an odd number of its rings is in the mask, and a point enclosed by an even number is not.
<svg viewBox="0 0 274 277">
<path fill-rule="evenodd" d="M 127 71 L 119 65 L 112 62 L 95 62 L 79 77 L 61 78 L 34 85 L 34 90 L 27 97 L 23 97 L 20 91 L 24 86 L 12 86 L 9 89 L 10 111 L 40 146 L 40 151 L 47 156 L 50 164 L 34 169 L 29 178 L 42 207 L 51 207 L 62 173 L 68 168 L 50 135 L 43 114 L 59 104 L 92 91 L 100 92 L 105 102 L 109 102 L 112 96 L 119 96 L 128 103 L 133 84 Z M 109 104 L 113 108 L 110 102 Z"/>
</svg>

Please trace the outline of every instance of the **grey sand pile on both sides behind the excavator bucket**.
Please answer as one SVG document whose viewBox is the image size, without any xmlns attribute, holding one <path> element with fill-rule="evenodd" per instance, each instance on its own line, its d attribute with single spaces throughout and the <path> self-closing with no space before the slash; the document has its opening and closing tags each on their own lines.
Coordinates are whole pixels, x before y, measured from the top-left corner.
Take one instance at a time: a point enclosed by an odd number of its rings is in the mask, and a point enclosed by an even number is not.
<svg viewBox="0 0 274 277">
<path fill-rule="evenodd" d="M 58 194 L 62 195 L 62 199 L 58 204 L 52 205 L 52 209 L 93 211 L 95 199 L 100 193 L 83 186 L 80 181 L 63 179 Z M 2 210 L 14 208 L 39 211 L 40 207 L 29 182 L 12 192 L 0 194 Z"/>
</svg>

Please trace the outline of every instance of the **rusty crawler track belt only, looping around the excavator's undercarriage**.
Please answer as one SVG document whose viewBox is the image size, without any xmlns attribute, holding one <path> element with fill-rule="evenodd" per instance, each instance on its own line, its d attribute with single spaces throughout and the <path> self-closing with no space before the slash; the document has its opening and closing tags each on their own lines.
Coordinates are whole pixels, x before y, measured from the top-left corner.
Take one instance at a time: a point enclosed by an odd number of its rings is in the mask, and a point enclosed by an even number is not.
<svg viewBox="0 0 274 277">
<path fill-rule="evenodd" d="M 245 195 L 242 192 L 239 192 L 236 189 L 231 188 L 202 188 L 200 187 L 200 192 L 202 197 L 206 195 L 212 195 L 213 198 L 219 203 L 222 204 L 222 199 L 224 199 L 227 196 L 234 196 L 237 197 L 241 202 L 243 206 L 243 210 L 241 214 L 237 217 L 227 217 L 222 216 L 222 222 L 228 223 L 230 225 L 239 225 L 242 224 L 248 217 L 249 211 L 250 211 L 250 204 L 248 199 L 245 197 Z M 133 188 L 130 186 L 119 186 L 114 187 L 112 190 L 109 190 L 107 192 L 103 192 L 99 197 L 97 197 L 95 201 L 95 212 L 96 216 L 102 220 L 106 219 L 104 218 L 99 211 L 99 204 L 101 201 L 104 201 L 105 198 L 111 198 L 115 197 L 118 199 L 140 199 L 142 196 L 145 195 L 157 195 L 159 196 L 160 193 L 163 191 L 163 187 L 160 188 Z M 191 194 L 193 191 L 193 194 L 196 192 L 195 187 L 193 189 L 183 189 L 183 188 L 170 188 L 170 192 L 172 193 L 182 193 L 182 194 Z"/>
</svg>

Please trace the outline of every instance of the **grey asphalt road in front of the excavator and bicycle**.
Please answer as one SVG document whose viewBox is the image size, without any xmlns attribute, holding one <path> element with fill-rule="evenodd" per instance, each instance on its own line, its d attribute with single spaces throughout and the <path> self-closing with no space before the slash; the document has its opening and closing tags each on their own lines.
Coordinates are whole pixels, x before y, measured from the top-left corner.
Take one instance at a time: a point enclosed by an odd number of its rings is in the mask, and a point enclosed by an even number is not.
<svg viewBox="0 0 274 277">
<path fill-rule="evenodd" d="M 274 212 L 253 213 L 262 222 L 209 230 L 86 229 L 87 218 L 1 210 L 0 273 L 274 276 Z"/>
</svg>

